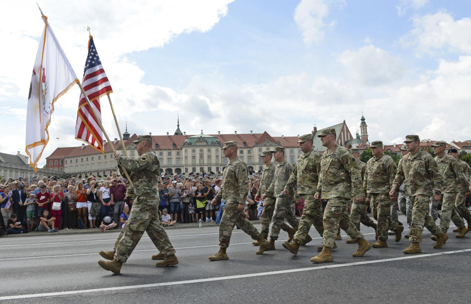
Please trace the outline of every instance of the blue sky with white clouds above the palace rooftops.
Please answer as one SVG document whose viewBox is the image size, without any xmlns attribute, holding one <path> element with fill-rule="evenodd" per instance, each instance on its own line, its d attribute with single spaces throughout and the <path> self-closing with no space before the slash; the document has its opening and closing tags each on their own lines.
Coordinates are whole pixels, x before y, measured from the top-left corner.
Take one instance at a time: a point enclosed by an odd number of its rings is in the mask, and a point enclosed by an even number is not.
<svg viewBox="0 0 471 304">
<path fill-rule="evenodd" d="M 471 2 L 112 1 L 107 12 L 86 9 L 105 3 L 40 5 L 79 78 L 90 25 L 118 121 L 122 128 L 128 121 L 131 133 L 173 132 L 177 112 L 188 134 L 296 135 L 343 119 L 354 133 L 363 111 L 370 140 L 471 138 Z M 9 114 L 7 133 L 18 130 L 0 151 L 16 153 L 24 151 L 43 24 L 34 1 L 0 5 L 0 38 L 18 46 L 0 51 L 0 107 Z M 50 134 L 60 146 L 80 144 L 77 104 L 78 88 L 56 103 Z M 117 137 L 102 108 L 105 128 Z M 55 147 L 53 140 L 44 154 Z"/>
</svg>

